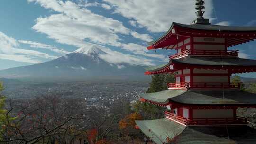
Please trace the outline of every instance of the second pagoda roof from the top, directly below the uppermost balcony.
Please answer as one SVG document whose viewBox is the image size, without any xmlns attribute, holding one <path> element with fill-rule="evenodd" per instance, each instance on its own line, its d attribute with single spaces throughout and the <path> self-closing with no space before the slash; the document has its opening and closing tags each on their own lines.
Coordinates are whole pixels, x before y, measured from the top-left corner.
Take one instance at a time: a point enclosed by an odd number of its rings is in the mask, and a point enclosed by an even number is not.
<svg viewBox="0 0 256 144">
<path fill-rule="evenodd" d="M 188 67 L 190 65 L 197 65 L 198 68 L 227 68 L 227 67 L 247 67 L 247 70 L 231 71 L 233 73 L 252 72 L 256 68 L 256 60 L 243 59 L 238 57 L 206 57 L 206 56 L 186 56 L 180 59 L 171 59 L 167 64 L 147 68 L 145 74 L 157 74 L 163 72 L 172 72 L 170 65 L 177 67 Z"/>
</svg>

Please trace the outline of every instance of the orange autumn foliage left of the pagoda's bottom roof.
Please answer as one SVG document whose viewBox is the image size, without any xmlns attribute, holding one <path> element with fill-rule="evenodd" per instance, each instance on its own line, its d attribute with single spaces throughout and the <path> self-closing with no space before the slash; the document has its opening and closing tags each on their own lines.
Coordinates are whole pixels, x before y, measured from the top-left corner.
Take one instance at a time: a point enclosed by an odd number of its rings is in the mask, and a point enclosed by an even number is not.
<svg viewBox="0 0 256 144">
<path fill-rule="evenodd" d="M 135 120 L 141 120 L 141 119 L 142 119 L 142 116 L 138 113 L 129 114 L 125 118 L 123 118 L 121 121 L 119 121 L 119 128 L 126 129 L 129 126 L 135 127 L 136 125 Z"/>
</svg>

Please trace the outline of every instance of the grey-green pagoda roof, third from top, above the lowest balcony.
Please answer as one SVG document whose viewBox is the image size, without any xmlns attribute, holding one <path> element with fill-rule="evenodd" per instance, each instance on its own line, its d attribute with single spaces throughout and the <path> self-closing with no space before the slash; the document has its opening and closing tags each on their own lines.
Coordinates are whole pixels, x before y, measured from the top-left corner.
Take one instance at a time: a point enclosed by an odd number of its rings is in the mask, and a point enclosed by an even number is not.
<svg viewBox="0 0 256 144">
<path fill-rule="evenodd" d="M 224 96 L 223 96 L 224 94 Z M 140 95 L 146 101 L 167 105 L 255 105 L 256 94 L 241 90 L 164 90 Z"/>
</svg>

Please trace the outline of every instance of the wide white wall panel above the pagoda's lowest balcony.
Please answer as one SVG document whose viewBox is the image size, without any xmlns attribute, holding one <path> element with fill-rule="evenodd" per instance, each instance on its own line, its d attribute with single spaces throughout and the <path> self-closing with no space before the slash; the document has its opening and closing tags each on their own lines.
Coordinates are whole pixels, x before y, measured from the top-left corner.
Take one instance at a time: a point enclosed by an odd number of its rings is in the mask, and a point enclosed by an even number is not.
<svg viewBox="0 0 256 144">
<path fill-rule="evenodd" d="M 193 119 L 196 118 L 233 118 L 233 109 L 193 109 Z"/>
</svg>

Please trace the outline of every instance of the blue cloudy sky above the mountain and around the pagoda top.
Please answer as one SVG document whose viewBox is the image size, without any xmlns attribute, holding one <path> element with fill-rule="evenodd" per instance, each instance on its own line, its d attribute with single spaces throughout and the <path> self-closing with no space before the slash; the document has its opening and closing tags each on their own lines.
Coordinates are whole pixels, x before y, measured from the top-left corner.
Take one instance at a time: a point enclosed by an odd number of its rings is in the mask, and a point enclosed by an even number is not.
<svg viewBox="0 0 256 144">
<path fill-rule="evenodd" d="M 172 22 L 190 24 L 195 0 L 0 0 L 0 69 L 43 63 L 100 45 L 106 61 L 158 65 L 174 50 L 146 50 Z M 256 26 L 256 0 L 205 0 L 212 24 Z M 229 48 L 256 59 L 256 42 Z M 243 74 L 255 77 L 256 73 Z"/>
</svg>

